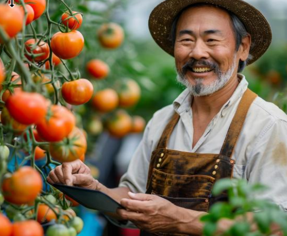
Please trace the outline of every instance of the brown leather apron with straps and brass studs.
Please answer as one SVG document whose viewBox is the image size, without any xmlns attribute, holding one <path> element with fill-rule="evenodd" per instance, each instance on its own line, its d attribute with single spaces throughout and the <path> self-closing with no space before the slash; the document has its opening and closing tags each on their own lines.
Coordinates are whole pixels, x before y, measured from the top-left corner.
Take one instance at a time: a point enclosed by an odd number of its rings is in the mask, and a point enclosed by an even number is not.
<svg viewBox="0 0 287 236">
<path fill-rule="evenodd" d="M 248 109 L 256 96 L 249 89 L 244 93 L 220 154 L 168 150 L 166 148 L 168 139 L 180 117 L 178 113 L 175 113 L 165 127 L 157 149 L 152 153 L 146 193 L 156 194 L 177 206 L 201 212 L 208 212 L 214 202 L 227 200 L 226 194 L 222 193 L 220 196 L 214 197 L 211 195 L 211 190 L 216 180 L 232 178 L 235 160 L 231 157 Z M 161 232 L 153 234 L 141 231 L 140 235 L 186 234 Z"/>
</svg>

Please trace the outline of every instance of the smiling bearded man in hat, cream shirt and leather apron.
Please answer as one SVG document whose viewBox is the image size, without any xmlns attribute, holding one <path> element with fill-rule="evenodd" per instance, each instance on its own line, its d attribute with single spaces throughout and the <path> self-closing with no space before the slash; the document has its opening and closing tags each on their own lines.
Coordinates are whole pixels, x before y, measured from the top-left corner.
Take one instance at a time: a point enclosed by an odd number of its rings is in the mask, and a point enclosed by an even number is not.
<svg viewBox="0 0 287 236">
<path fill-rule="evenodd" d="M 287 116 L 237 73 L 271 43 L 264 16 L 241 0 L 166 0 L 149 27 L 187 89 L 154 114 L 119 188 L 98 183 L 80 161 L 48 181 L 105 192 L 142 235 L 202 234 L 199 218 L 224 199 L 212 196 L 214 182 L 232 176 L 270 186 L 262 197 L 286 210 Z"/>
</svg>

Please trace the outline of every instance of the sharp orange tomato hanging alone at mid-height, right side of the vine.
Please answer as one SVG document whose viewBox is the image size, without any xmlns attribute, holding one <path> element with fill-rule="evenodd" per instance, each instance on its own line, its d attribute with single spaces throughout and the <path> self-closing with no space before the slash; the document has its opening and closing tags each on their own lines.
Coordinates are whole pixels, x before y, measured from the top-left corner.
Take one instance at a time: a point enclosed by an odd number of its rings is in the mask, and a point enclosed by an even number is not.
<svg viewBox="0 0 287 236">
<path fill-rule="evenodd" d="M 88 102 L 94 92 L 93 84 L 88 79 L 77 79 L 62 85 L 62 96 L 67 103 L 81 105 Z"/>
</svg>

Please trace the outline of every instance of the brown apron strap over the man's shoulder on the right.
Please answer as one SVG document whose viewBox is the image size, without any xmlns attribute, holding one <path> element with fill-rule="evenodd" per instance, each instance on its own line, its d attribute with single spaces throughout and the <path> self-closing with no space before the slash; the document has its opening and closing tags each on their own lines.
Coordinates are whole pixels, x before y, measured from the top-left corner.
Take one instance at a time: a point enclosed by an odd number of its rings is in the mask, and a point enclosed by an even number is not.
<svg viewBox="0 0 287 236">
<path fill-rule="evenodd" d="M 248 109 L 256 97 L 257 95 L 253 93 L 251 90 L 249 90 L 249 88 L 247 88 L 247 90 L 245 91 L 240 100 L 240 103 L 233 117 L 231 125 L 229 126 L 224 143 L 221 147 L 220 151 L 221 155 L 227 156 L 229 158 L 232 157 L 234 147 L 236 145 L 238 136 L 243 127 L 243 123 L 245 121 Z"/>
</svg>

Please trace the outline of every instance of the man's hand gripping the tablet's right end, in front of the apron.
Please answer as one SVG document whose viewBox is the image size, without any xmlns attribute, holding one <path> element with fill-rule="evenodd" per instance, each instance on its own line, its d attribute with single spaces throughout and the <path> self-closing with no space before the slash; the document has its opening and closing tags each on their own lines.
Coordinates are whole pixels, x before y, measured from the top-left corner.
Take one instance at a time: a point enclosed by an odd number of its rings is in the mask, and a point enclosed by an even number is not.
<svg viewBox="0 0 287 236">
<path fill-rule="evenodd" d="M 128 194 L 130 199 L 121 200 L 126 210 L 117 210 L 121 218 L 130 220 L 138 228 L 149 232 L 178 232 L 178 210 L 181 208 L 156 195 L 131 192 Z"/>
</svg>

